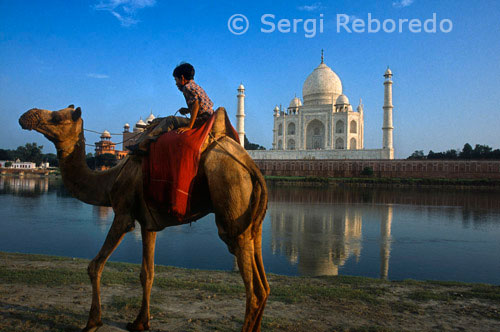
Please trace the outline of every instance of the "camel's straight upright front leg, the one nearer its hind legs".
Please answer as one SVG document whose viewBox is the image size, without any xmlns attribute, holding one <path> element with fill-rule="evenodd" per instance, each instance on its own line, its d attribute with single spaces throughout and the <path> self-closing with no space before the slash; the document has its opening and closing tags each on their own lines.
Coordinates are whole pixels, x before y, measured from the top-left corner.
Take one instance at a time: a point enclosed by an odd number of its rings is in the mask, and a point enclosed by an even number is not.
<svg viewBox="0 0 500 332">
<path fill-rule="evenodd" d="M 149 232 L 141 227 L 142 233 L 142 306 L 139 315 L 133 323 L 127 324 L 129 331 L 144 331 L 150 329 L 149 298 L 155 276 L 155 243 L 156 232 Z"/>
</svg>

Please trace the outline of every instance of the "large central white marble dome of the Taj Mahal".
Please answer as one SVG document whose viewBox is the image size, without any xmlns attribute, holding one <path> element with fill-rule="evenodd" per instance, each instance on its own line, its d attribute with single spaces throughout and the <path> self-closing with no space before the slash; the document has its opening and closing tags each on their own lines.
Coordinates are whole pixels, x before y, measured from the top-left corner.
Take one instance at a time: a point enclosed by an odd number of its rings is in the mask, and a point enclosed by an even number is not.
<svg viewBox="0 0 500 332">
<path fill-rule="evenodd" d="M 304 105 L 332 104 L 342 94 L 342 82 L 323 62 L 307 77 L 302 87 Z"/>
</svg>

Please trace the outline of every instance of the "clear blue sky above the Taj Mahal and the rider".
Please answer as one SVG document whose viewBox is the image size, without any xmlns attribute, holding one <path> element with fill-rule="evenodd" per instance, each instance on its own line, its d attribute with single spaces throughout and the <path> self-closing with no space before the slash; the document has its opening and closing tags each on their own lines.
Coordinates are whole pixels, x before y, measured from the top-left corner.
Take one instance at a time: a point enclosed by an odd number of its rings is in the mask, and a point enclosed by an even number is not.
<svg viewBox="0 0 500 332">
<path fill-rule="evenodd" d="M 449 19 L 449 33 L 337 32 L 337 14 L 351 19 Z M 248 31 L 234 35 L 228 19 L 243 14 Z M 261 32 L 264 14 L 316 19 L 318 32 Z M 321 16 L 320 16 L 321 15 Z M 319 20 L 323 32 L 319 33 Z M 374 1 L 5 1 L 0 0 L 0 148 L 38 142 L 17 119 L 38 107 L 83 110 L 85 127 L 120 133 L 139 117 L 167 116 L 184 106 L 172 78 L 181 61 L 235 121 L 236 88 L 246 87 L 248 138 L 272 144 L 273 108 L 302 97 L 320 62 L 340 77 L 354 106 L 365 105 L 365 148 L 382 144 L 383 73 L 394 73 L 396 157 L 415 150 L 500 148 L 500 2 L 495 0 Z M 98 135 L 88 134 L 94 143 Z M 113 139 L 121 141 L 120 137 Z M 91 150 L 91 148 L 88 148 Z M 93 151 L 92 151 L 93 152 Z"/>
</svg>

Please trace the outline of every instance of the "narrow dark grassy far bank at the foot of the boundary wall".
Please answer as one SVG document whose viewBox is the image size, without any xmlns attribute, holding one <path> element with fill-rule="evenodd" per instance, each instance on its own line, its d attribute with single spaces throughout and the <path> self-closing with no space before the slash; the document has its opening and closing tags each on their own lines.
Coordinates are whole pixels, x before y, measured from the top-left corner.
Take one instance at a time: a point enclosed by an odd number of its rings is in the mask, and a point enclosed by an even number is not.
<svg viewBox="0 0 500 332">
<path fill-rule="evenodd" d="M 431 178 L 330 178 L 315 176 L 265 176 L 268 185 L 277 186 L 338 186 L 350 185 L 359 187 L 380 188 L 454 188 L 454 189 L 488 189 L 500 191 L 500 181 L 494 179 L 431 179 Z"/>
</svg>

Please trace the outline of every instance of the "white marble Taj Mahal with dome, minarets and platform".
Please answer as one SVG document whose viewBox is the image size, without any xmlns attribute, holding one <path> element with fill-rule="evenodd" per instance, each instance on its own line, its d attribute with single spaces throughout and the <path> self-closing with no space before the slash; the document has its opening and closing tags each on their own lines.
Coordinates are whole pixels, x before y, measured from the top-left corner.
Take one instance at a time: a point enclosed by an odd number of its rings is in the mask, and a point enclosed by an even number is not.
<svg viewBox="0 0 500 332">
<path fill-rule="evenodd" d="M 353 109 L 342 81 L 324 63 L 322 54 L 321 63 L 304 82 L 303 102 L 295 96 L 287 109 L 274 109 L 272 149 L 248 152 L 254 159 L 394 159 L 390 69 L 384 77 L 381 149 L 364 148 L 363 104 L 360 101 Z"/>
</svg>

